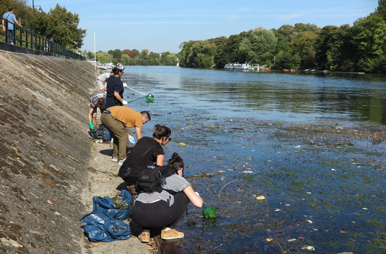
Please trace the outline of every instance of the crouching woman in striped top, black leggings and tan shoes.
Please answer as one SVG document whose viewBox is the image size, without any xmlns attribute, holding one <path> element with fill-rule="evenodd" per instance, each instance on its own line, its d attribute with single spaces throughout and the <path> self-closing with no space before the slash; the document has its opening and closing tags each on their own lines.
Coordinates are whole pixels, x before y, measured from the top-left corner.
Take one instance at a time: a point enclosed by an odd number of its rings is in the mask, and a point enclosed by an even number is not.
<svg viewBox="0 0 386 254">
<path fill-rule="evenodd" d="M 174 226 L 182 217 L 189 201 L 201 207 L 202 198 L 193 191 L 192 186 L 183 176 L 184 162 L 173 153 L 168 160 L 168 165 L 178 168 L 177 174 L 166 177 L 166 183 L 162 184 L 164 189 L 177 192 L 174 196 L 163 190 L 161 193 L 140 193 L 134 199 L 134 206 L 131 211 L 131 218 L 142 227 L 142 233 L 138 236 L 141 242 L 149 242 L 150 228 L 163 228 L 162 239 L 176 239 L 184 237 L 184 233 L 178 232 Z"/>
</svg>

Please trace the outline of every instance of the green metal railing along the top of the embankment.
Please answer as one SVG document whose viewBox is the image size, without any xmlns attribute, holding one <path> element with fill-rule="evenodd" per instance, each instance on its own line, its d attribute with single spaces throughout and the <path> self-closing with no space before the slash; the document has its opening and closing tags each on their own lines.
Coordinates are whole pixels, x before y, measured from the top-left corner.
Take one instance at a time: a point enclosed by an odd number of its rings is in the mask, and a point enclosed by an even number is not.
<svg viewBox="0 0 386 254">
<path fill-rule="evenodd" d="M 59 45 L 58 43 L 49 40 L 48 38 L 41 36 L 39 34 L 36 34 L 35 32 L 30 31 L 29 29 L 26 29 L 24 27 L 20 27 L 17 24 L 14 24 L 13 29 L 10 29 L 12 32 L 12 35 L 9 35 L 8 33 L 8 20 L 3 19 L 5 24 L 5 31 L 1 29 L 0 31 L 0 38 L 5 38 L 4 42 L 9 43 L 13 42 L 16 46 L 24 47 L 24 48 L 30 48 L 40 51 L 46 51 L 51 52 L 54 54 L 67 56 L 79 60 L 86 60 L 84 56 L 81 56 L 75 52 L 73 52 L 71 49 L 68 49 L 62 45 Z"/>
</svg>

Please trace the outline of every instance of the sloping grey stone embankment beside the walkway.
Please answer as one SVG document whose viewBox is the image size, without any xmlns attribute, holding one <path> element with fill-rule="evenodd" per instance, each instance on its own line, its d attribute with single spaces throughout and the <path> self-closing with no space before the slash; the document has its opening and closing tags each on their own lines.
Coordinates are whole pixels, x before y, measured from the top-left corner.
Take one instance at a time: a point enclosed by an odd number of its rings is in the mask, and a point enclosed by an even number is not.
<svg viewBox="0 0 386 254">
<path fill-rule="evenodd" d="M 0 50 L 0 251 L 80 253 L 91 142 L 86 61 Z"/>
</svg>

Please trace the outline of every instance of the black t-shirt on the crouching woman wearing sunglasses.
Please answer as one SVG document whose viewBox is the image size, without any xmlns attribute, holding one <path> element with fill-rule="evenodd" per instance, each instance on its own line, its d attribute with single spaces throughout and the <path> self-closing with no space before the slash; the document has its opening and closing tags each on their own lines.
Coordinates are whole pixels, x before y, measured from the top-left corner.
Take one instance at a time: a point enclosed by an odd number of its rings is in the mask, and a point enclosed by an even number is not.
<svg viewBox="0 0 386 254">
<path fill-rule="evenodd" d="M 147 151 L 149 148 L 150 150 Z M 135 184 L 135 182 L 137 182 L 139 172 L 141 172 L 144 167 L 157 162 L 158 155 L 164 155 L 164 149 L 158 141 L 150 137 L 142 137 L 138 140 L 121 166 L 121 169 L 128 169 L 131 167 L 129 177 L 131 184 Z M 124 180 L 126 181 L 126 179 Z"/>
</svg>

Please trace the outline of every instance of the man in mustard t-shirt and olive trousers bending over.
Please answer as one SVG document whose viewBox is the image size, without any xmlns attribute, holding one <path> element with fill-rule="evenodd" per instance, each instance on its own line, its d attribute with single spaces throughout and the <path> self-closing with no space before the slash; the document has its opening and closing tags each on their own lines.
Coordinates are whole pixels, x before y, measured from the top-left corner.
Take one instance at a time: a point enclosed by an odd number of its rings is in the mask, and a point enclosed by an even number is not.
<svg viewBox="0 0 386 254">
<path fill-rule="evenodd" d="M 135 127 L 135 134 L 139 140 L 142 138 L 142 124 L 150 121 L 150 114 L 147 111 L 134 111 L 130 107 L 113 106 L 103 112 L 100 120 L 114 139 L 112 161 L 118 161 L 118 164 L 122 165 L 126 159 L 126 147 L 129 140 L 125 127 Z"/>
</svg>

